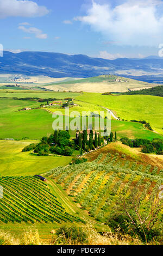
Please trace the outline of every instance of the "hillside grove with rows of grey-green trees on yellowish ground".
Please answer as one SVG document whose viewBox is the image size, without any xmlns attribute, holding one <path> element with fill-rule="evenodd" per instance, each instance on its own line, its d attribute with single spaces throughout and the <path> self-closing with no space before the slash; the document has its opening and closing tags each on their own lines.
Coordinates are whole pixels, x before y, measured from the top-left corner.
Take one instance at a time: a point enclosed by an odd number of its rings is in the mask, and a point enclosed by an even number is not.
<svg viewBox="0 0 163 256">
<path fill-rule="evenodd" d="M 116 205 L 118 194 L 135 190 L 148 199 L 163 183 L 163 169 L 128 161 L 125 155 L 100 154 L 94 161 L 57 167 L 47 173 L 74 202 L 96 220 L 105 221 Z"/>
</svg>

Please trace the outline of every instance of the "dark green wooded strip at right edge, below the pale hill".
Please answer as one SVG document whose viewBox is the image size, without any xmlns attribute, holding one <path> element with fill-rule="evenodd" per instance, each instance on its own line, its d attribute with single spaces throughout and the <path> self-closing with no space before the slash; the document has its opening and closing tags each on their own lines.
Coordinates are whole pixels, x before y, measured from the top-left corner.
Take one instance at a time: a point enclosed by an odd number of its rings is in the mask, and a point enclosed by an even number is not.
<svg viewBox="0 0 163 256">
<path fill-rule="evenodd" d="M 156 86 L 149 89 L 142 89 L 142 90 L 134 90 L 122 94 L 127 95 L 134 95 L 134 94 L 145 94 L 145 95 L 154 95 L 154 96 L 160 96 L 163 97 L 163 86 Z"/>
</svg>

